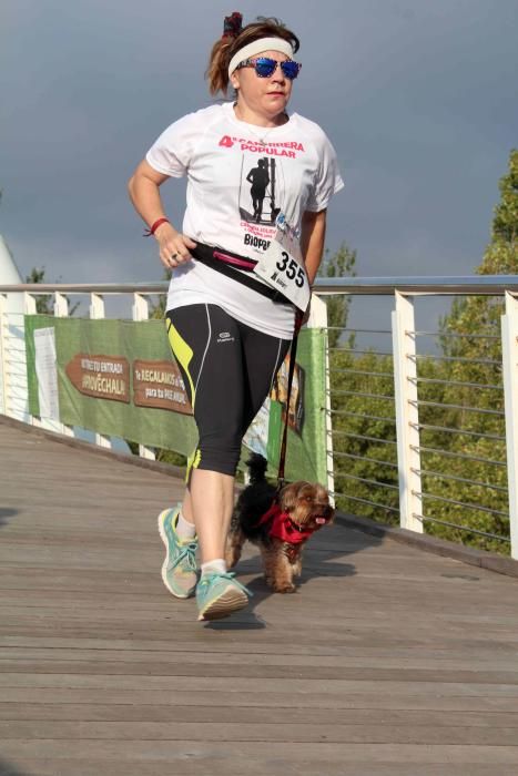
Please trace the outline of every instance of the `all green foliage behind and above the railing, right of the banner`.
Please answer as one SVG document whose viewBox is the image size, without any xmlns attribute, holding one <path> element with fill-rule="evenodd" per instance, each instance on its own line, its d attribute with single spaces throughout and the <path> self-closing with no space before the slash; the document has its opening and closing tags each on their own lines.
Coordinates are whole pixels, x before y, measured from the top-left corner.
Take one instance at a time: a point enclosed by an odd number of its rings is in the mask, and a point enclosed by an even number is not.
<svg viewBox="0 0 518 776">
<path fill-rule="evenodd" d="M 518 274 L 518 151 L 510 154 L 500 194 L 479 274 Z M 419 358 L 417 375 L 419 423 L 431 427 L 420 431 L 423 514 L 433 519 L 425 521 L 425 530 L 450 541 L 506 553 L 508 544 L 483 535 L 509 535 L 502 312 L 501 299 L 496 297 L 454 302 L 440 321 L 441 353 Z M 387 443 L 395 440 L 395 427 L 389 421 L 393 405 L 353 394 L 392 396 L 394 388 L 389 377 L 367 371 L 390 375 L 390 359 L 341 348 L 332 351 L 333 409 L 337 411 L 333 416 L 336 491 L 353 497 L 338 499 L 343 509 L 387 522 L 387 515 L 390 521 L 396 512 L 387 512 L 386 508 L 398 508 L 394 488 L 397 470 L 386 466 L 396 462 L 395 446 Z M 360 436 L 379 441 L 358 439 Z M 468 527 L 474 532 L 445 523 Z"/>
</svg>

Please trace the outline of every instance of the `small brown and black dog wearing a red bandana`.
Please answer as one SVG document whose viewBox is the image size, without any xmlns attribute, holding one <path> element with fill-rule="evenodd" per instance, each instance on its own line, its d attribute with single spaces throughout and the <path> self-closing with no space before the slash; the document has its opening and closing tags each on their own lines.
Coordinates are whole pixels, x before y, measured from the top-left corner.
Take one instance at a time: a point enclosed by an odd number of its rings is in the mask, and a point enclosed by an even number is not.
<svg viewBox="0 0 518 776">
<path fill-rule="evenodd" d="M 292 482 L 277 494 L 265 479 L 263 456 L 253 453 L 247 463 L 251 483 L 232 515 L 226 563 L 228 568 L 237 563 L 248 540 L 261 550 L 266 584 L 276 593 L 294 593 L 293 578 L 302 571 L 302 548 L 312 533 L 333 522 L 335 510 L 323 486 Z"/>
</svg>

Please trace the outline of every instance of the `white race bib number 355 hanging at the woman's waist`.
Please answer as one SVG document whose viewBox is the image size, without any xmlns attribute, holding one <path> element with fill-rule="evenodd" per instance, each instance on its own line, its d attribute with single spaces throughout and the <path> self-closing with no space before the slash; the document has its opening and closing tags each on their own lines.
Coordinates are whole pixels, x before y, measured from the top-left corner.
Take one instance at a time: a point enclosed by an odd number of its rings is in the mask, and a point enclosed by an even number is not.
<svg viewBox="0 0 518 776">
<path fill-rule="evenodd" d="M 277 226 L 275 237 L 258 259 L 254 272 L 305 313 L 309 304 L 311 288 L 298 255 L 296 241 L 287 229 Z"/>
</svg>

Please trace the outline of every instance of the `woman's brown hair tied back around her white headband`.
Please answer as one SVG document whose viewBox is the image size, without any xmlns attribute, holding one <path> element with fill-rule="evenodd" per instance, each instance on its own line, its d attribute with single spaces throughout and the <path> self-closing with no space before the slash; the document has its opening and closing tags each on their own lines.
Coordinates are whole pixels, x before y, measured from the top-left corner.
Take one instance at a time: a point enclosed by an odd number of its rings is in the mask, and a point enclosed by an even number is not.
<svg viewBox="0 0 518 776">
<path fill-rule="evenodd" d="M 261 38 L 282 38 L 292 44 L 293 51 L 298 51 L 298 38 L 273 17 L 257 17 L 257 21 L 241 29 L 241 13 L 234 12 L 225 18 L 223 37 L 212 47 L 205 76 L 211 94 L 228 90 L 228 64 L 233 55 L 248 43 Z"/>
</svg>

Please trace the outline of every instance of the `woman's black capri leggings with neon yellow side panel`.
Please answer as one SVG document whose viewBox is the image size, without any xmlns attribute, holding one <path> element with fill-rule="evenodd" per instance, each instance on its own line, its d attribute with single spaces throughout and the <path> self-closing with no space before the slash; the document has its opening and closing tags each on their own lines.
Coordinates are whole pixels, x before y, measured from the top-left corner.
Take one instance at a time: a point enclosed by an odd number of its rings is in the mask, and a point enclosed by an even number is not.
<svg viewBox="0 0 518 776">
<path fill-rule="evenodd" d="M 290 347 L 232 318 L 217 305 L 167 313 L 167 335 L 200 439 L 191 469 L 235 474 L 241 442 L 267 397 Z"/>
</svg>

